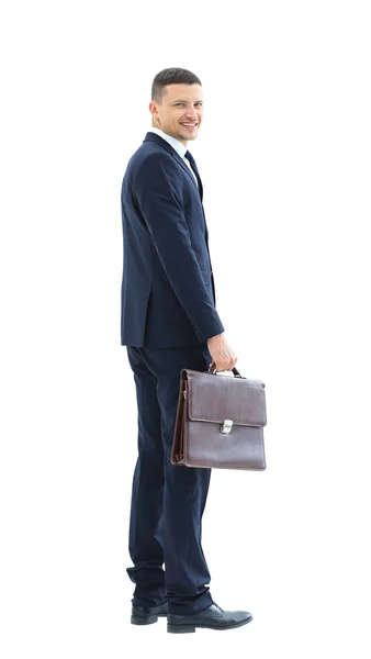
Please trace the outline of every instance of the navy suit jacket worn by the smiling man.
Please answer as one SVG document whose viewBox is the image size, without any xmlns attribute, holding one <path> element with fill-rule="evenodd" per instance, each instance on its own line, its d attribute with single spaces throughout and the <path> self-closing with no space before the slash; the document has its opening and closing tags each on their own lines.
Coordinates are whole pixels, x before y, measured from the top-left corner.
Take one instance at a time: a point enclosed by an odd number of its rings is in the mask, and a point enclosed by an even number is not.
<svg viewBox="0 0 371 659">
<path fill-rule="evenodd" d="M 187 163 L 148 132 L 122 183 L 121 345 L 167 348 L 224 332 L 215 309 L 207 227 Z"/>
</svg>

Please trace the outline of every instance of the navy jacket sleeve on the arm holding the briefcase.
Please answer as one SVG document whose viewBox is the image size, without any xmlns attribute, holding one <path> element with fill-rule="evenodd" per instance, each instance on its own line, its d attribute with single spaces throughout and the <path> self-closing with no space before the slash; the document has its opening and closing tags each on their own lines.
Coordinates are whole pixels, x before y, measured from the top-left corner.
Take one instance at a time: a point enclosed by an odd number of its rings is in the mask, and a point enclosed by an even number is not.
<svg viewBox="0 0 371 659">
<path fill-rule="evenodd" d="M 133 186 L 134 197 L 170 284 L 201 342 L 224 332 L 203 280 L 186 221 L 181 172 L 167 154 L 147 157 Z"/>
</svg>

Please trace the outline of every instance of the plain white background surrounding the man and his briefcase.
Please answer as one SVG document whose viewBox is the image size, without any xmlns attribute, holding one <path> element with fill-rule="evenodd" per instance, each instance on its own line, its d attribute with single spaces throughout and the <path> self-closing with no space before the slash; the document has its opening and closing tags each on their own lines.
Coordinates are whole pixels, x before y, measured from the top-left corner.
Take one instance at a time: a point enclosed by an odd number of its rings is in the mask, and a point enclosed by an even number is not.
<svg viewBox="0 0 371 659">
<path fill-rule="evenodd" d="M 369 658 L 368 2 L 2 7 L 2 657 Z M 130 624 L 120 345 L 121 182 L 171 66 L 203 83 L 216 306 L 268 412 L 267 470 L 214 470 L 203 518 L 213 597 L 254 621 L 181 638 Z"/>
</svg>

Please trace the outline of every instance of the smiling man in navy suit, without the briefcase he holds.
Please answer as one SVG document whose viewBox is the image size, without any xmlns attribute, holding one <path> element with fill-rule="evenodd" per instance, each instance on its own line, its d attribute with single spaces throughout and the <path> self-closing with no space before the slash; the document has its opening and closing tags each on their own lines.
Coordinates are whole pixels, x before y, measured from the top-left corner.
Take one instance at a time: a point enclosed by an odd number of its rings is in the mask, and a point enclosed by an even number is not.
<svg viewBox="0 0 371 659">
<path fill-rule="evenodd" d="M 149 111 L 153 127 L 122 185 L 121 344 L 138 409 L 131 622 L 145 625 L 167 615 L 168 632 L 227 629 L 251 615 L 223 611 L 206 585 L 201 518 L 211 469 L 170 462 L 181 369 L 214 365 L 226 371 L 237 361 L 215 309 L 202 182 L 187 148 L 202 123 L 200 79 L 187 69 L 164 69 L 153 81 Z"/>
</svg>

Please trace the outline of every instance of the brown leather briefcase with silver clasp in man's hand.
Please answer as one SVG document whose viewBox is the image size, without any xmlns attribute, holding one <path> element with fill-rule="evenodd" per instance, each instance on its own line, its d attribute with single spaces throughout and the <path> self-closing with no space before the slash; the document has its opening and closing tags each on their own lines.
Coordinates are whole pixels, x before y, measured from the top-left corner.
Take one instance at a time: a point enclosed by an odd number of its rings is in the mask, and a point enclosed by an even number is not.
<svg viewBox="0 0 371 659">
<path fill-rule="evenodd" d="M 172 465 L 266 469 L 266 386 L 233 373 L 181 370 Z"/>
</svg>

